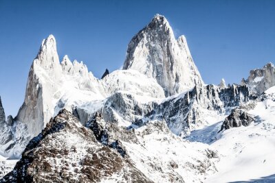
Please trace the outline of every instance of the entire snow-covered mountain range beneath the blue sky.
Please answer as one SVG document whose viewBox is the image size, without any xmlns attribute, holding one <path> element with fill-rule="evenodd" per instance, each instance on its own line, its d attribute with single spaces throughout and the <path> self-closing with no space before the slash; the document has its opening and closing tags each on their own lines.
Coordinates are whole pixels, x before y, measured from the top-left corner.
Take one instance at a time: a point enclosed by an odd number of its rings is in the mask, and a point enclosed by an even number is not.
<svg viewBox="0 0 275 183">
<path fill-rule="evenodd" d="M 83 62 L 60 62 L 50 35 L 32 62 L 17 117 L 5 119 L 0 99 L 0 178 L 10 172 L 0 182 L 272 175 L 274 85 L 271 63 L 240 85 L 204 84 L 186 39 L 176 40 L 159 14 L 132 38 L 123 69 L 101 79 Z M 12 159 L 20 159 L 15 167 Z"/>
</svg>

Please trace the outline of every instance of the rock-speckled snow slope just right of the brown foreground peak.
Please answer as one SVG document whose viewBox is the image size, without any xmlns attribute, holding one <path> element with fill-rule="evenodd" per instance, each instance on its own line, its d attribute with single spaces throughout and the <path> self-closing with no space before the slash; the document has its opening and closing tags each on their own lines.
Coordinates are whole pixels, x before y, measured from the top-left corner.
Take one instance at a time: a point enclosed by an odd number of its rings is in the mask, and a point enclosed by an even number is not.
<svg viewBox="0 0 275 183">
<path fill-rule="evenodd" d="M 217 158 L 206 157 L 208 145 L 184 141 L 171 133 L 163 121 L 151 121 L 135 130 L 135 134 L 140 144 L 122 143 L 137 169 L 154 182 L 203 181 L 205 174 L 194 168 L 202 166 L 200 163 L 206 167 L 206 175 L 216 171 Z"/>
</svg>

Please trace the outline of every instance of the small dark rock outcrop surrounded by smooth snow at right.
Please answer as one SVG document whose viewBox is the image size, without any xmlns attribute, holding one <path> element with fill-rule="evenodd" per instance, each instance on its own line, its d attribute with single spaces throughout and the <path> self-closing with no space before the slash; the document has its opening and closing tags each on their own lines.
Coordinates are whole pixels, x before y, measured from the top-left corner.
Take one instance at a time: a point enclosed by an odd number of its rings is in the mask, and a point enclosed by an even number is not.
<svg viewBox="0 0 275 183">
<path fill-rule="evenodd" d="M 254 117 L 252 117 L 251 114 L 248 114 L 248 112 L 234 109 L 231 114 L 225 118 L 223 125 L 221 125 L 220 132 L 222 130 L 228 130 L 232 127 L 240 127 L 241 125 L 248 126 L 253 121 L 255 121 Z"/>
</svg>

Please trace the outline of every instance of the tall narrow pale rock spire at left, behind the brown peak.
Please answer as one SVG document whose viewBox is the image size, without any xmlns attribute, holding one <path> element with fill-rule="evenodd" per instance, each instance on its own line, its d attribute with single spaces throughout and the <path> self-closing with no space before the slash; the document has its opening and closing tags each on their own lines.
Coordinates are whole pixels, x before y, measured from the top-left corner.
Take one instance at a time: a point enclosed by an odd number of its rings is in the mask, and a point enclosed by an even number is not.
<svg viewBox="0 0 275 183">
<path fill-rule="evenodd" d="M 45 75 L 47 73 L 47 75 Z M 50 121 L 53 114 L 52 95 L 61 80 L 61 66 L 56 40 L 50 35 L 43 40 L 39 53 L 32 63 L 25 100 L 16 120 L 28 125 L 28 132 L 36 136 Z"/>
</svg>

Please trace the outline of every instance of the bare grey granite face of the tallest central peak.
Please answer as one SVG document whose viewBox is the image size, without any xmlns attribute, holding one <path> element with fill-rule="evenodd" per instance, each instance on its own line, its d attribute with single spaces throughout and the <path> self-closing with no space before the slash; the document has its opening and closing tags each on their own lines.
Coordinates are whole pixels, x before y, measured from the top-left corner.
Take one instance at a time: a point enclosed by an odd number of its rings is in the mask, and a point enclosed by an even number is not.
<svg viewBox="0 0 275 183">
<path fill-rule="evenodd" d="M 128 45 L 123 69 L 134 69 L 153 77 L 166 96 L 203 84 L 186 38 L 177 40 L 164 16 L 155 15 Z"/>
</svg>

